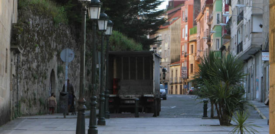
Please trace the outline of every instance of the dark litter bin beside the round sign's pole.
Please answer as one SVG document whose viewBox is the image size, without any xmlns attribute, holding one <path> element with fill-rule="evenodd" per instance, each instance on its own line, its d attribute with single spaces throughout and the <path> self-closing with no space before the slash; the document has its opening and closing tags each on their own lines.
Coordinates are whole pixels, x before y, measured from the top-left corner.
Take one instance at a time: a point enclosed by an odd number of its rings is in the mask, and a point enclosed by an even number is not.
<svg viewBox="0 0 275 134">
<path fill-rule="evenodd" d="M 68 100 L 69 93 L 68 92 L 60 92 L 59 95 L 59 113 L 68 113 Z"/>
</svg>

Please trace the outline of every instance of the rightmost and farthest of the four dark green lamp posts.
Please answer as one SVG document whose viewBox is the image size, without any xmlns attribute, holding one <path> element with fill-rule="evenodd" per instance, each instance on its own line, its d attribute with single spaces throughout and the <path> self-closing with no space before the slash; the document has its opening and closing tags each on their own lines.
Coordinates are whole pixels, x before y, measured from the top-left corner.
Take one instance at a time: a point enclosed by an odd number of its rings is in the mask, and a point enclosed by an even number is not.
<svg viewBox="0 0 275 134">
<path fill-rule="evenodd" d="M 110 118 L 109 112 L 109 38 L 112 35 L 114 23 L 111 20 L 108 20 L 107 30 L 105 32 L 106 36 L 106 85 L 105 85 L 105 118 Z"/>
</svg>

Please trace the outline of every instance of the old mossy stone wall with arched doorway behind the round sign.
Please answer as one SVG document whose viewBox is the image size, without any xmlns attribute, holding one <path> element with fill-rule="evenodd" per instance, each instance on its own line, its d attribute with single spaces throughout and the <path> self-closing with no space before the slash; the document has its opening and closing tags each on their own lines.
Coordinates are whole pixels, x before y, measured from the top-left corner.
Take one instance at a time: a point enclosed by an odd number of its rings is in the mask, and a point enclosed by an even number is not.
<svg viewBox="0 0 275 134">
<path fill-rule="evenodd" d="M 65 63 L 60 59 L 60 52 L 66 47 L 75 53 L 74 60 L 68 66 L 68 78 L 78 99 L 81 31 L 71 25 L 54 25 L 52 17 L 31 10 L 21 10 L 18 17 L 14 31 L 21 31 L 23 52 L 18 65 L 18 98 L 16 91 L 13 94 L 13 105 L 18 107 L 18 101 L 19 107 L 18 111 L 15 109 L 13 112 L 21 115 L 44 114 L 48 112 L 47 99 L 50 93 L 55 93 L 59 100 L 65 79 Z M 87 45 L 86 51 L 89 51 Z M 86 59 L 86 65 L 88 70 L 85 72 L 90 72 L 89 58 Z M 86 85 L 89 85 L 89 81 Z"/>
</svg>

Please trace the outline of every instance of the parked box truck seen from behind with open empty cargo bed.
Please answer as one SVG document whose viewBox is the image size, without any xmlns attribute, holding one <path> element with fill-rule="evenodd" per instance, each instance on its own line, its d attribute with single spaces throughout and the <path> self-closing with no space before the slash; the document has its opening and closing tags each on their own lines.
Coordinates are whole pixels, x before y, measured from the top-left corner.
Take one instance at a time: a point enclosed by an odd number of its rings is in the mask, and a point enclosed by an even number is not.
<svg viewBox="0 0 275 134">
<path fill-rule="evenodd" d="M 109 52 L 110 113 L 160 112 L 160 56 L 152 51 Z"/>
</svg>

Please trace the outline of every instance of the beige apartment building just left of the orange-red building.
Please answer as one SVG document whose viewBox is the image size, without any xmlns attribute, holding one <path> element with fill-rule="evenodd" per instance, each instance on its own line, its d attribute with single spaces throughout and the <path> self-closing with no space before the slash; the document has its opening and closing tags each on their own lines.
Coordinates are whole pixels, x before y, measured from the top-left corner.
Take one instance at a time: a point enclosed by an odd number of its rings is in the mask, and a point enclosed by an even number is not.
<svg viewBox="0 0 275 134">
<path fill-rule="evenodd" d="M 165 24 L 160 26 L 155 35 L 151 38 L 158 37 L 161 42 L 151 45 L 151 50 L 156 51 L 161 56 L 160 69 L 166 68 L 166 77 L 163 79 L 163 74 L 160 74 L 160 82 L 170 93 L 170 66 L 171 63 L 180 60 L 180 20 L 181 11 L 174 13 Z M 161 70 L 162 72 L 162 70 Z"/>
</svg>

